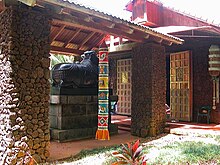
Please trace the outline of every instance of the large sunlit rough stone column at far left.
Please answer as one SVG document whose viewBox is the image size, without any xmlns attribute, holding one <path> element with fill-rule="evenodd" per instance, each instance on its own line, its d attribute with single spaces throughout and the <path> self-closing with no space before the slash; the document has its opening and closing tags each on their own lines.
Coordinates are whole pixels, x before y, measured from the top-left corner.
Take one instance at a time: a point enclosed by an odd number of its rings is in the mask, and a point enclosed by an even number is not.
<svg viewBox="0 0 220 165">
<path fill-rule="evenodd" d="M 0 164 L 49 157 L 49 34 L 47 16 L 31 8 L 0 14 Z"/>
</svg>

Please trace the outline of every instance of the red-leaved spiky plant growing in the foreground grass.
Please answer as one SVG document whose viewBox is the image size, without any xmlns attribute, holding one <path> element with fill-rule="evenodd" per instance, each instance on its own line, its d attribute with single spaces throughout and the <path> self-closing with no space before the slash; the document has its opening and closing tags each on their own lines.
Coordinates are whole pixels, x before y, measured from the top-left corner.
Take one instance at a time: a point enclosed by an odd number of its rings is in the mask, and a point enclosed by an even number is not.
<svg viewBox="0 0 220 165">
<path fill-rule="evenodd" d="M 146 156 L 143 153 L 143 147 L 139 146 L 140 140 L 133 145 L 131 143 L 122 144 L 121 151 L 115 151 L 112 155 L 116 161 L 112 165 L 129 164 L 129 165 L 146 165 Z"/>
</svg>

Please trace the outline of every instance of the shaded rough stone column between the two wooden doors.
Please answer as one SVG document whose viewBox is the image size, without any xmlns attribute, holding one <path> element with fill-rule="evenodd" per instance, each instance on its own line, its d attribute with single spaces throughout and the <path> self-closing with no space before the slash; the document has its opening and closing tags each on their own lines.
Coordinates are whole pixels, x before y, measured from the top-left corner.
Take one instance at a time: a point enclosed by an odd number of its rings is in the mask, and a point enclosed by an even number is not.
<svg viewBox="0 0 220 165">
<path fill-rule="evenodd" d="M 146 137 L 164 131 L 166 56 L 164 47 L 143 44 L 133 49 L 131 134 Z"/>
</svg>

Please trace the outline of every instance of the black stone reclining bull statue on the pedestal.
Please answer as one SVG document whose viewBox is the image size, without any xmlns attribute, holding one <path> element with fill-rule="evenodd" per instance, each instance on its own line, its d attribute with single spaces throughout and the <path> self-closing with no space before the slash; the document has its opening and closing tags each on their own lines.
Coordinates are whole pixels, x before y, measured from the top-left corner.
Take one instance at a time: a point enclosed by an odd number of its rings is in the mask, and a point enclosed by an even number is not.
<svg viewBox="0 0 220 165">
<path fill-rule="evenodd" d="M 59 87 L 97 87 L 98 57 L 95 51 L 86 51 L 81 55 L 80 63 L 60 63 L 52 68 L 53 86 Z"/>
</svg>

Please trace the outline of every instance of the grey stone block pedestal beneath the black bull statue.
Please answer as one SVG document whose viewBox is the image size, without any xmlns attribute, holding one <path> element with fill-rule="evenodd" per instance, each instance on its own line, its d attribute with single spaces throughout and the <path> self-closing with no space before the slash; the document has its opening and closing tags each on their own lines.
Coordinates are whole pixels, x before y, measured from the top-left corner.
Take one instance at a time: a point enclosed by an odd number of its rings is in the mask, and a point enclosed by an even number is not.
<svg viewBox="0 0 220 165">
<path fill-rule="evenodd" d="M 78 90 L 75 89 L 76 92 Z M 49 115 L 52 140 L 64 142 L 95 138 L 98 124 L 97 96 L 51 95 Z M 111 134 L 118 132 L 114 124 L 110 124 L 109 129 Z"/>
</svg>

